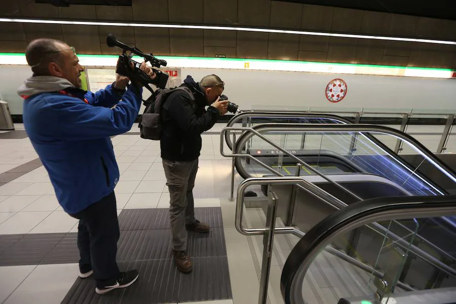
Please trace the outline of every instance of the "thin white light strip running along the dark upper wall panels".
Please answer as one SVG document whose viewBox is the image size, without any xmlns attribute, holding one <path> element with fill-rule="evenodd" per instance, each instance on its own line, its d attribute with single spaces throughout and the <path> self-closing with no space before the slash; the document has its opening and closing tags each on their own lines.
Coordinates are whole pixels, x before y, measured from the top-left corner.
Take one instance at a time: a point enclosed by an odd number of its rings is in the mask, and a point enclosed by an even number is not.
<svg viewBox="0 0 456 304">
<path fill-rule="evenodd" d="M 454 42 L 454 41 L 445 41 L 445 40 L 416 39 L 416 38 L 360 35 L 360 34 L 342 34 L 342 33 L 330 33 L 330 32 L 260 28 L 260 27 L 236 27 L 236 26 L 216 26 L 216 25 L 191 25 L 191 24 L 157 24 L 157 23 L 134 23 L 134 22 L 106 22 L 106 21 L 82 21 L 82 20 L 43 20 L 43 19 L 26 19 L 26 18 L 0 18 L 0 22 L 236 30 L 236 31 L 265 32 L 265 33 L 298 34 L 298 35 L 329 36 L 329 37 L 344 37 L 344 38 L 359 38 L 359 39 L 456 45 L 456 42 Z"/>
</svg>

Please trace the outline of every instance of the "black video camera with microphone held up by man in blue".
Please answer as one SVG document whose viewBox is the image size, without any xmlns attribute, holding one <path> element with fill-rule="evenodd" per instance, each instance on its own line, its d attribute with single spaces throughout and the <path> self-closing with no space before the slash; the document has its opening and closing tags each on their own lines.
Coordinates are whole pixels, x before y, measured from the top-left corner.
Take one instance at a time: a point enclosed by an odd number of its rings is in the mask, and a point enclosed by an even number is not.
<svg viewBox="0 0 456 304">
<path fill-rule="evenodd" d="M 132 83 L 134 81 L 139 82 L 143 87 L 146 87 L 147 90 L 149 90 L 152 94 L 154 94 L 154 90 L 150 88 L 148 84 L 153 84 L 160 89 L 165 88 L 169 78 L 169 75 L 167 73 L 164 73 L 160 70 L 153 68 L 157 77 L 154 80 L 151 80 L 149 75 L 147 75 L 144 71 L 139 69 L 141 63 L 134 61 L 131 58 L 133 57 L 133 54 L 136 54 L 138 56 L 143 57 L 146 62 L 150 62 L 152 66 L 155 66 L 157 68 L 161 67 L 162 65 L 166 66 L 167 62 L 165 60 L 157 59 L 151 53 L 145 54 L 136 47 L 133 48 L 128 46 L 118 41 L 116 39 L 116 36 L 114 36 L 113 34 L 107 35 L 106 44 L 110 48 L 118 47 L 123 50 L 122 55 L 119 56 L 119 62 L 117 64 L 116 73 L 130 78 L 130 80 L 132 80 Z M 127 51 L 129 51 L 128 54 Z M 130 65 L 131 62 L 133 62 L 133 68 Z"/>
</svg>

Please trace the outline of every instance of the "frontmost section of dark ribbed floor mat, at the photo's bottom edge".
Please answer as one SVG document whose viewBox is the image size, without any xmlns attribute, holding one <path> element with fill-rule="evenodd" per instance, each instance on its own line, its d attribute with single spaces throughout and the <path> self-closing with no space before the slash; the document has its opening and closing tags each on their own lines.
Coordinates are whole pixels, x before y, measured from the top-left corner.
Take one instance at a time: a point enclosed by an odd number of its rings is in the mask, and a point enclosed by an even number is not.
<svg viewBox="0 0 456 304">
<path fill-rule="evenodd" d="M 62 304 L 176 303 L 232 298 L 226 256 L 193 258 L 194 271 L 182 274 L 172 259 L 119 262 L 121 271 L 137 269 L 138 281 L 105 295 L 95 293 L 95 282 L 78 279 Z"/>
</svg>

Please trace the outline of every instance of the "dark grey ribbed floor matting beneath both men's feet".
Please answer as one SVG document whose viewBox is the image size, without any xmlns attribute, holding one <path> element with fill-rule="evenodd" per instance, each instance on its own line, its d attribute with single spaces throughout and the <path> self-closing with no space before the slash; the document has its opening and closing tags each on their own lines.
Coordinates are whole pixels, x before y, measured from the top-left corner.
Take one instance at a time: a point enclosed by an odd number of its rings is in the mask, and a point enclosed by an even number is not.
<svg viewBox="0 0 456 304">
<path fill-rule="evenodd" d="M 99 296 L 95 282 L 77 279 L 62 303 L 169 303 L 231 298 L 230 274 L 220 208 L 196 208 L 211 224 L 208 234 L 188 233 L 194 270 L 181 274 L 172 260 L 167 209 L 123 210 L 118 261 L 121 270 L 137 269 L 138 282 Z M 76 263 L 77 234 L 0 236 L 0 266 Z"/>
</svg>

